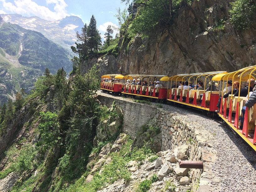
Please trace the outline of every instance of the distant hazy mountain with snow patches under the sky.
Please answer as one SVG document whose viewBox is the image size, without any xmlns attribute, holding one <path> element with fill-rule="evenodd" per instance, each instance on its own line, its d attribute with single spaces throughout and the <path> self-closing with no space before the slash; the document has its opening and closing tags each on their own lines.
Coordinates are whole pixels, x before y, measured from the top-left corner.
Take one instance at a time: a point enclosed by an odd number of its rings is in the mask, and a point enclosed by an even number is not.
<svg viewBox="0 0 256 192">
<path fill-rule="evenodd" d="M 2 17 L 5 22 L 38 31 L 70 51 L 70 46 L 76 41 L 76 31 L 80 32 L 84 25 L 82 19 L 77 16 L 67 16 L 57 21 L 47 21 L 36 16 L 23 17 L 19 14 L 2 14 Z"/>
</svg>

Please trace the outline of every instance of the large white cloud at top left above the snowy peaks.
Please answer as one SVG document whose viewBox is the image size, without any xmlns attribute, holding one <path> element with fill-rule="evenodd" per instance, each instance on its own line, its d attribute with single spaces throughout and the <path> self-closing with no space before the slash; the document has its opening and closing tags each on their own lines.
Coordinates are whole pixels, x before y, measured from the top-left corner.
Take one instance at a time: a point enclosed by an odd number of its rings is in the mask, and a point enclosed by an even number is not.
<svg viewBox="0 0 256 192">
<path fill-rule="evenodd" d="M 6 0 L 0 0 L 3 4 L 3 8 L 11 13 L 26 14 L 28 16 L 38 16 L 42 19 L 55 21 L 62 19 L 67 14 L 67 4 L 64 0 L 45 0 L 47 5 L 54 4 L 54 11 L 51 11 L 45 6 L 40 6 L 32 0 L 14 0 L 13 3 L 6 2 Z"/>
</svg>

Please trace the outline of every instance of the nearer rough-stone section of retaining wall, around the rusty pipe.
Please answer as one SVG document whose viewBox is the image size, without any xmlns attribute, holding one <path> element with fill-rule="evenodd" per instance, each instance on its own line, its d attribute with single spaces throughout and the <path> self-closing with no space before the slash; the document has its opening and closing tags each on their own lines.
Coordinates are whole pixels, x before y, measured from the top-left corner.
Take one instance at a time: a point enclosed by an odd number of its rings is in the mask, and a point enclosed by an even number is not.
<svg viewBox="0 0 256 192">
<path fill-rule="evenodd" d="M 202 161 L 202 151 L 207 145 L 206 135 L 201 133 L 202 128 L 198 124 L 188 124 L 183 116 L 173 115 L 163 109 L 157 109 L 157 122 L 160 125 L 162 134 L 162 151 L 174 148 L 181 145 L 188 145 L 189 160 Z M 191 189 L 197 191 L 200 182 L 199 178 L 202 170 L 191 169 L 192 185 Z"/>
</svg>

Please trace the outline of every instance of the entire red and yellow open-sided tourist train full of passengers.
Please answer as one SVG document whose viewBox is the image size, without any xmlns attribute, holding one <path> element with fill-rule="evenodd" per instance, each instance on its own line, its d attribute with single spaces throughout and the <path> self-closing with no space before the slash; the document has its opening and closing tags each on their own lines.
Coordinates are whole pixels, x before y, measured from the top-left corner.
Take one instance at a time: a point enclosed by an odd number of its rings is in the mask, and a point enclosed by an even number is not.
<svg viewBox="0 0 256 192">
<path fill-rule="evenodd" d="M 250 108 L 245 106 L 252 90 L 256 89 L 255 79 L 256 66 L 234 72 L 190 73 L 172 77 L 109 74 L 101 77 L 100 89 L 186 105 L 208 115 L 217 114 L 256 151 L 256 104 Z"/>
</svg>

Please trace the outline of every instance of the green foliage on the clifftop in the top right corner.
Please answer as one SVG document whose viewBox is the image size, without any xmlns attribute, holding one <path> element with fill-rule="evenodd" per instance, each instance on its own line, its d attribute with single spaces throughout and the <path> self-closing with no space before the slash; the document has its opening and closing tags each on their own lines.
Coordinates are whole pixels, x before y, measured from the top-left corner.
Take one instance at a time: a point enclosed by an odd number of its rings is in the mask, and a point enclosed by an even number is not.
<svg viewBox="0 0 256 192">
<path fill-rule="evenodd" d="M 256 5 L 253 0 L 237 0 L 231 3 L 230 21 L 238 30 L 250 28 L 255 21 Z"/>
</svg>

